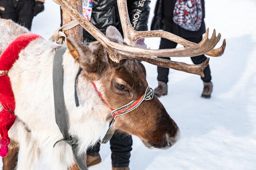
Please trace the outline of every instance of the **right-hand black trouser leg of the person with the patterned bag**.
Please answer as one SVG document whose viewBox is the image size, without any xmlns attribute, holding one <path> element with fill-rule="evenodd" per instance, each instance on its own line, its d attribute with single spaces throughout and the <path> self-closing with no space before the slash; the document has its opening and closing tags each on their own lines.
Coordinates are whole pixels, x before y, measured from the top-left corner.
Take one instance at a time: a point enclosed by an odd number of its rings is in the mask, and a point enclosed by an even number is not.
<svg viewBox="0 0 256 170">
<path fill-rule="evenodd" d="M 191 42 L 199 43 L 202 40 L 202 36 L 194 37 L 194 38 L 185 38 L 185 39 Z M 207 57 L 205 55 L 200 55 L 200 56 L 191 57 L 191 59 L 194 64 L 201 64 L 203 61 L 207 59 Z M 202 81 L 209 83 L 211 80 L 209 65 L 206 66 L 206 68 L 204 68 L 203 73 L 204 73 L 204 77 L 201 77 Z"/>
</svg>

